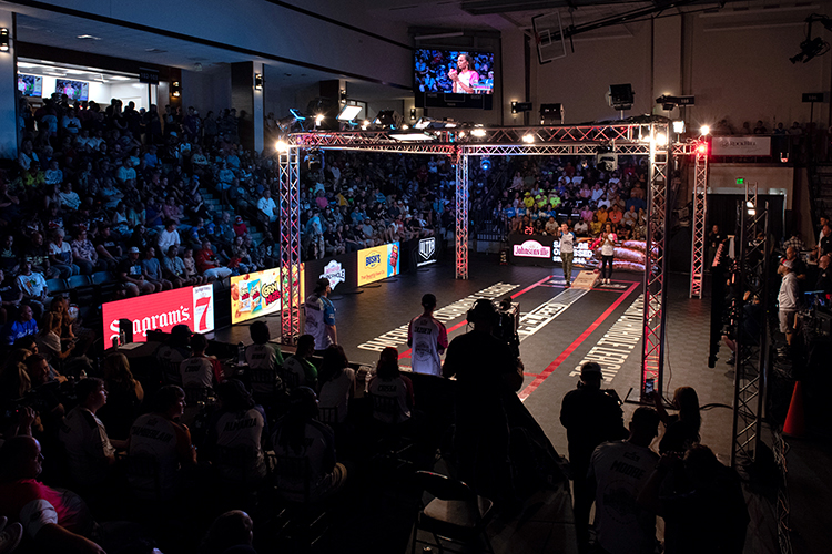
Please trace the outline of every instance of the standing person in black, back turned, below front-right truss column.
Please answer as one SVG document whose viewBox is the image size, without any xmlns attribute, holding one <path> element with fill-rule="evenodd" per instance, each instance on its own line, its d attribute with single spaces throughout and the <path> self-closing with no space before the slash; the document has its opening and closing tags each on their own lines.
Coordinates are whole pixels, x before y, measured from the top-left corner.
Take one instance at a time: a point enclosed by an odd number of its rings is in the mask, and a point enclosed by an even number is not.
<svg viewBox="0 0 832 554">
<path fill-rule="evenodd" d="M 578 388 L 564 397 L 560 423 L 566 428 L 569 443 L 569 469 L 574 486 L 575 531 L 578 547 L 589 545 L 589 510 L 592 494 L 587 484 L 589 461 L 596 447 L 603 442 L 626 439 L 623 412 L 618 400 L 601 390 L 601 366 L 588 361 L 580 368 Z"/>
</svg>

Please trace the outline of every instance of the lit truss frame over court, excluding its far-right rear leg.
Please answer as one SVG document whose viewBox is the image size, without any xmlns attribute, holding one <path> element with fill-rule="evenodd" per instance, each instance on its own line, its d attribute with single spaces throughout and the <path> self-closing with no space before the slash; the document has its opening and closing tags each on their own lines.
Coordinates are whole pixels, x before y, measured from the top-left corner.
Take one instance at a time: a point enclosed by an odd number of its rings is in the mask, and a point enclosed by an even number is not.
<svg viewBox="0 0 832 554">
<path fill-rule="evenodd" d="M 699 142 L 674 141 L 671 122 L 655 117 L 646 117 L 645 122 L 637 123 L 619 122 L 597 125 L 429 130 L 426 131 L 425 137 L 432 138 L 418 142 L 397 140 L 397 134 L 400 135 L 400 132 L 316 131 L 288 135 L 285 152 L 280 153 L 278 156 L 281 261 L 284 271 L 281 290 L 284 302 L 281 316 L 284 342 L 293 342 L 300 331 L 298 305 L 293 300 L 300 295 L 300 290 L 296 290 L 300 285 L 294 276 L 300 275 L 301 229 L 300 223 L 287 223 L 284 217 L 300 217 L 298 161 L 301 150 L 347 150 L 450 156 L 456 165 L 457 279 L 468 278 L 468 157 L 596 155 L 601 152 L 645 155 L 649 160 L 649 183 L 640 392 L 641 398 L 645 399 L 645 383 L 648 379 L 652 379 L 656 390 L 662 392 L 667 248 L 671 209 L 668 185 L 673 173 L 674 158 L 694 155 Z M 707 173 L 704 175 L 707 176 Z"/>
</svg>

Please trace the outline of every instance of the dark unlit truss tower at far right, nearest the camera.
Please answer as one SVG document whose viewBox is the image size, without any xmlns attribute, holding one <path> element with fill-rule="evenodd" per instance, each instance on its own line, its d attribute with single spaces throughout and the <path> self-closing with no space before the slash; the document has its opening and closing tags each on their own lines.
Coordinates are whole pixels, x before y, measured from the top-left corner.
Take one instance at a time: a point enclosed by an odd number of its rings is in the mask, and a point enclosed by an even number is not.
<svg viewBox="0 0 832 554">
<path fill-rule="evenodd" d="M 754 461 L 762 441 L 762 410 L 768 381 L 769 349 L 767 326 L 749 318 L 764 318 L 768 305 L 769 275 L 769 214 L 768 205 L 759 206 L 757 184 L 745 185 L 745 203 L 738 206 L 737 237 L 739 256 L 734 265 L 738 294 L 732 314 L 737 340 L 737 368 L 733 394 L 733 427 L 731 465 Z M 745 309 L 748 302 L 759 301 L 755 309 Z M 759 327 L 755 336 L 743 329 Z"/>
</svg>

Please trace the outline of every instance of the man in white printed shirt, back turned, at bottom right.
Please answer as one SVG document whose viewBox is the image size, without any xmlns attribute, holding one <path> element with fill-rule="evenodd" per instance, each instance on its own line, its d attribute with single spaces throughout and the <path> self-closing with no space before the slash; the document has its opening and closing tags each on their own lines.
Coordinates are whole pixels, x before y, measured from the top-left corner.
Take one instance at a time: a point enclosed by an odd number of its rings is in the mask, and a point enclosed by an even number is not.
<svg viewBox="0 0 832 554">
<path fill-rule="evenodd" d="M 630 437 L 595 449 L 588 486 L 596 502 L 597 544 L 609 554 L 652 554 L 656 551 L 656 513 L 637 499 L 659 462 L 650 443 L 659 432 L 659 414 L 641 407 L 630 421 Z"/>
</svg>

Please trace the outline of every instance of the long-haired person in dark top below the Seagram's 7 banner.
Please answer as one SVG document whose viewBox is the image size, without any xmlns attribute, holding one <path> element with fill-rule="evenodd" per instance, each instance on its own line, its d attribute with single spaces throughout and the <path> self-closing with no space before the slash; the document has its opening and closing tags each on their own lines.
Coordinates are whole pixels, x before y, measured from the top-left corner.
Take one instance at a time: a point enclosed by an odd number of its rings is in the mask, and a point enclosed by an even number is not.
<svg viewBox="0 0 832 554">
<path fill-rule="evenodd" d="M 108 402 L 97 416 L 106 425 L 110 437 L 126 440 L 144 400 L 144 389 L 130 371 L 126 356 L 121 352 L 104 358 L 103 369 Z"/>
</svg>

